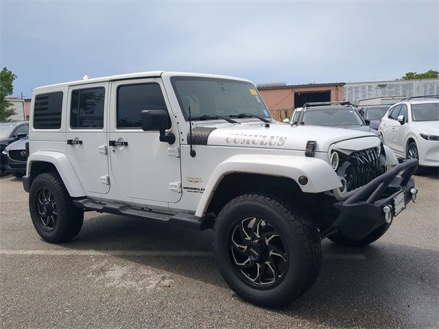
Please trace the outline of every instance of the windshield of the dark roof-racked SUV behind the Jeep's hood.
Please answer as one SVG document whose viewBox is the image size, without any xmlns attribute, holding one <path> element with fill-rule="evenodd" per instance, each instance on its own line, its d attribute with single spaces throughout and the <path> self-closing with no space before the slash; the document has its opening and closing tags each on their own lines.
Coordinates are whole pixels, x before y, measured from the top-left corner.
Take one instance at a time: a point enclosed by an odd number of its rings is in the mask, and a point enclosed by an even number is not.
<svg viewBox="0 0 439 329">
<path fill-rule="evenodd" d="M 305 125 L 363 125 L 357 111 L 351 109 L 305 110 L 302 122 Z"/>
</svg>

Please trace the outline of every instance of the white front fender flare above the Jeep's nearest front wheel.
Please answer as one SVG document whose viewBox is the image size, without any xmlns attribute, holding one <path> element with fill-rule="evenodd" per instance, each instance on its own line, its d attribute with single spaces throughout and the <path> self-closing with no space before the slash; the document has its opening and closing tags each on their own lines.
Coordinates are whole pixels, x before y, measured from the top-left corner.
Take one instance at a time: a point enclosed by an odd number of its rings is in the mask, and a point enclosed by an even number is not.
<svg viewBox="0 0 439 329">
<path fill-rule="evenodd" d="M 224 176 L 229 173 L 254 173 L 290 178 L 298 182 L 305 175 L 308 183 L 300 185 L 302 192 L 320 193 L 342 186 L 340 178 L 329 163 L 318 158 L 304 156 L 278 156 L 261 154 L 242 154 L 231 156 L 221 162 L 213 171 L 204 188 L 195 215 L 204 216 L 215 190 Z"/>
</svg>

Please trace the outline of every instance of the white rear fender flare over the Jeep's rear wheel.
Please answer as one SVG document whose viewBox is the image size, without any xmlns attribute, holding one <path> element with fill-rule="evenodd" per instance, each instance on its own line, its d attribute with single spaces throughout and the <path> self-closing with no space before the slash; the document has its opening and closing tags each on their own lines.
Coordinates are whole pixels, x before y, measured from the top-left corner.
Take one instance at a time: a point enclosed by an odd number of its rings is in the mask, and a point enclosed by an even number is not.
<svg viewBox="0 0 439 329">
<path fill-rule="evenodd" d="M 29 177 L 34 162 L 49 162 L 54 164 L 71 197 L 83 197 L 86 195 L 69 158 L 67 158 L 65 154 L 56 151 L 36 151 L 30 154 L 29 158 L 27 158 L 27 176 Z"/>
</svg>

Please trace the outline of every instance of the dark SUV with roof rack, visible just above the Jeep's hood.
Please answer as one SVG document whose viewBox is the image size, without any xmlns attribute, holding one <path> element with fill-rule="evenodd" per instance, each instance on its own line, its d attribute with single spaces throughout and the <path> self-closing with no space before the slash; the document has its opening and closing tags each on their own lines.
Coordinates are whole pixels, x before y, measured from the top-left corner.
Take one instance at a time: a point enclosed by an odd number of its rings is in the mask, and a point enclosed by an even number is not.
<svg viewBox="0 0 439 329">
<path fill-rule="evenodd" d="M 357 110 L 351 106 L 351 103 L 346 101 L 305 103 L 298 114 L 297 121 L 292 123 L 349 128 L 361 130 L 362 132 L 372 132 L 376 136 L 380 136 L 377 130 L 370 127 L 370 121 L 368 119 L 364 120 Z"/>
</svg>

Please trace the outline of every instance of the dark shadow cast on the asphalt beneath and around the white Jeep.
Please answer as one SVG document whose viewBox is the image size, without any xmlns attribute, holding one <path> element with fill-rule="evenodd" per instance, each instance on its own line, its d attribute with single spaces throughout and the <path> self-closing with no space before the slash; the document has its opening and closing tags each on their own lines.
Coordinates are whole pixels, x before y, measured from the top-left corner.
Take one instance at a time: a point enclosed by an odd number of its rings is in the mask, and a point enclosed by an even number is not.
<svg viewBox="0 0 439 329">
<path fill-rule="evenodd" d="M 117 256 L 179 276 L 228 289 L 212 252 L 212 231 L 171 228 L 129 217 L 92 215 L 82 232 L 63 246 L 71 249 L 196 251 L 202 257 Z M 438 325 L 437 250 L 377 241 L 365 248 L 323 241 L 323 261 L 316 284 L 278 312 L 316 326 L 334 328 L 420 328 Z M 230 291 L 230 298 L 234 297 Z M 420 298 L 422 296 L 422 298 Z M 252 306 L 248 303 L 249 307 Z M 285 324 L 287 326 L 287 324 Z"/>
</svg>

